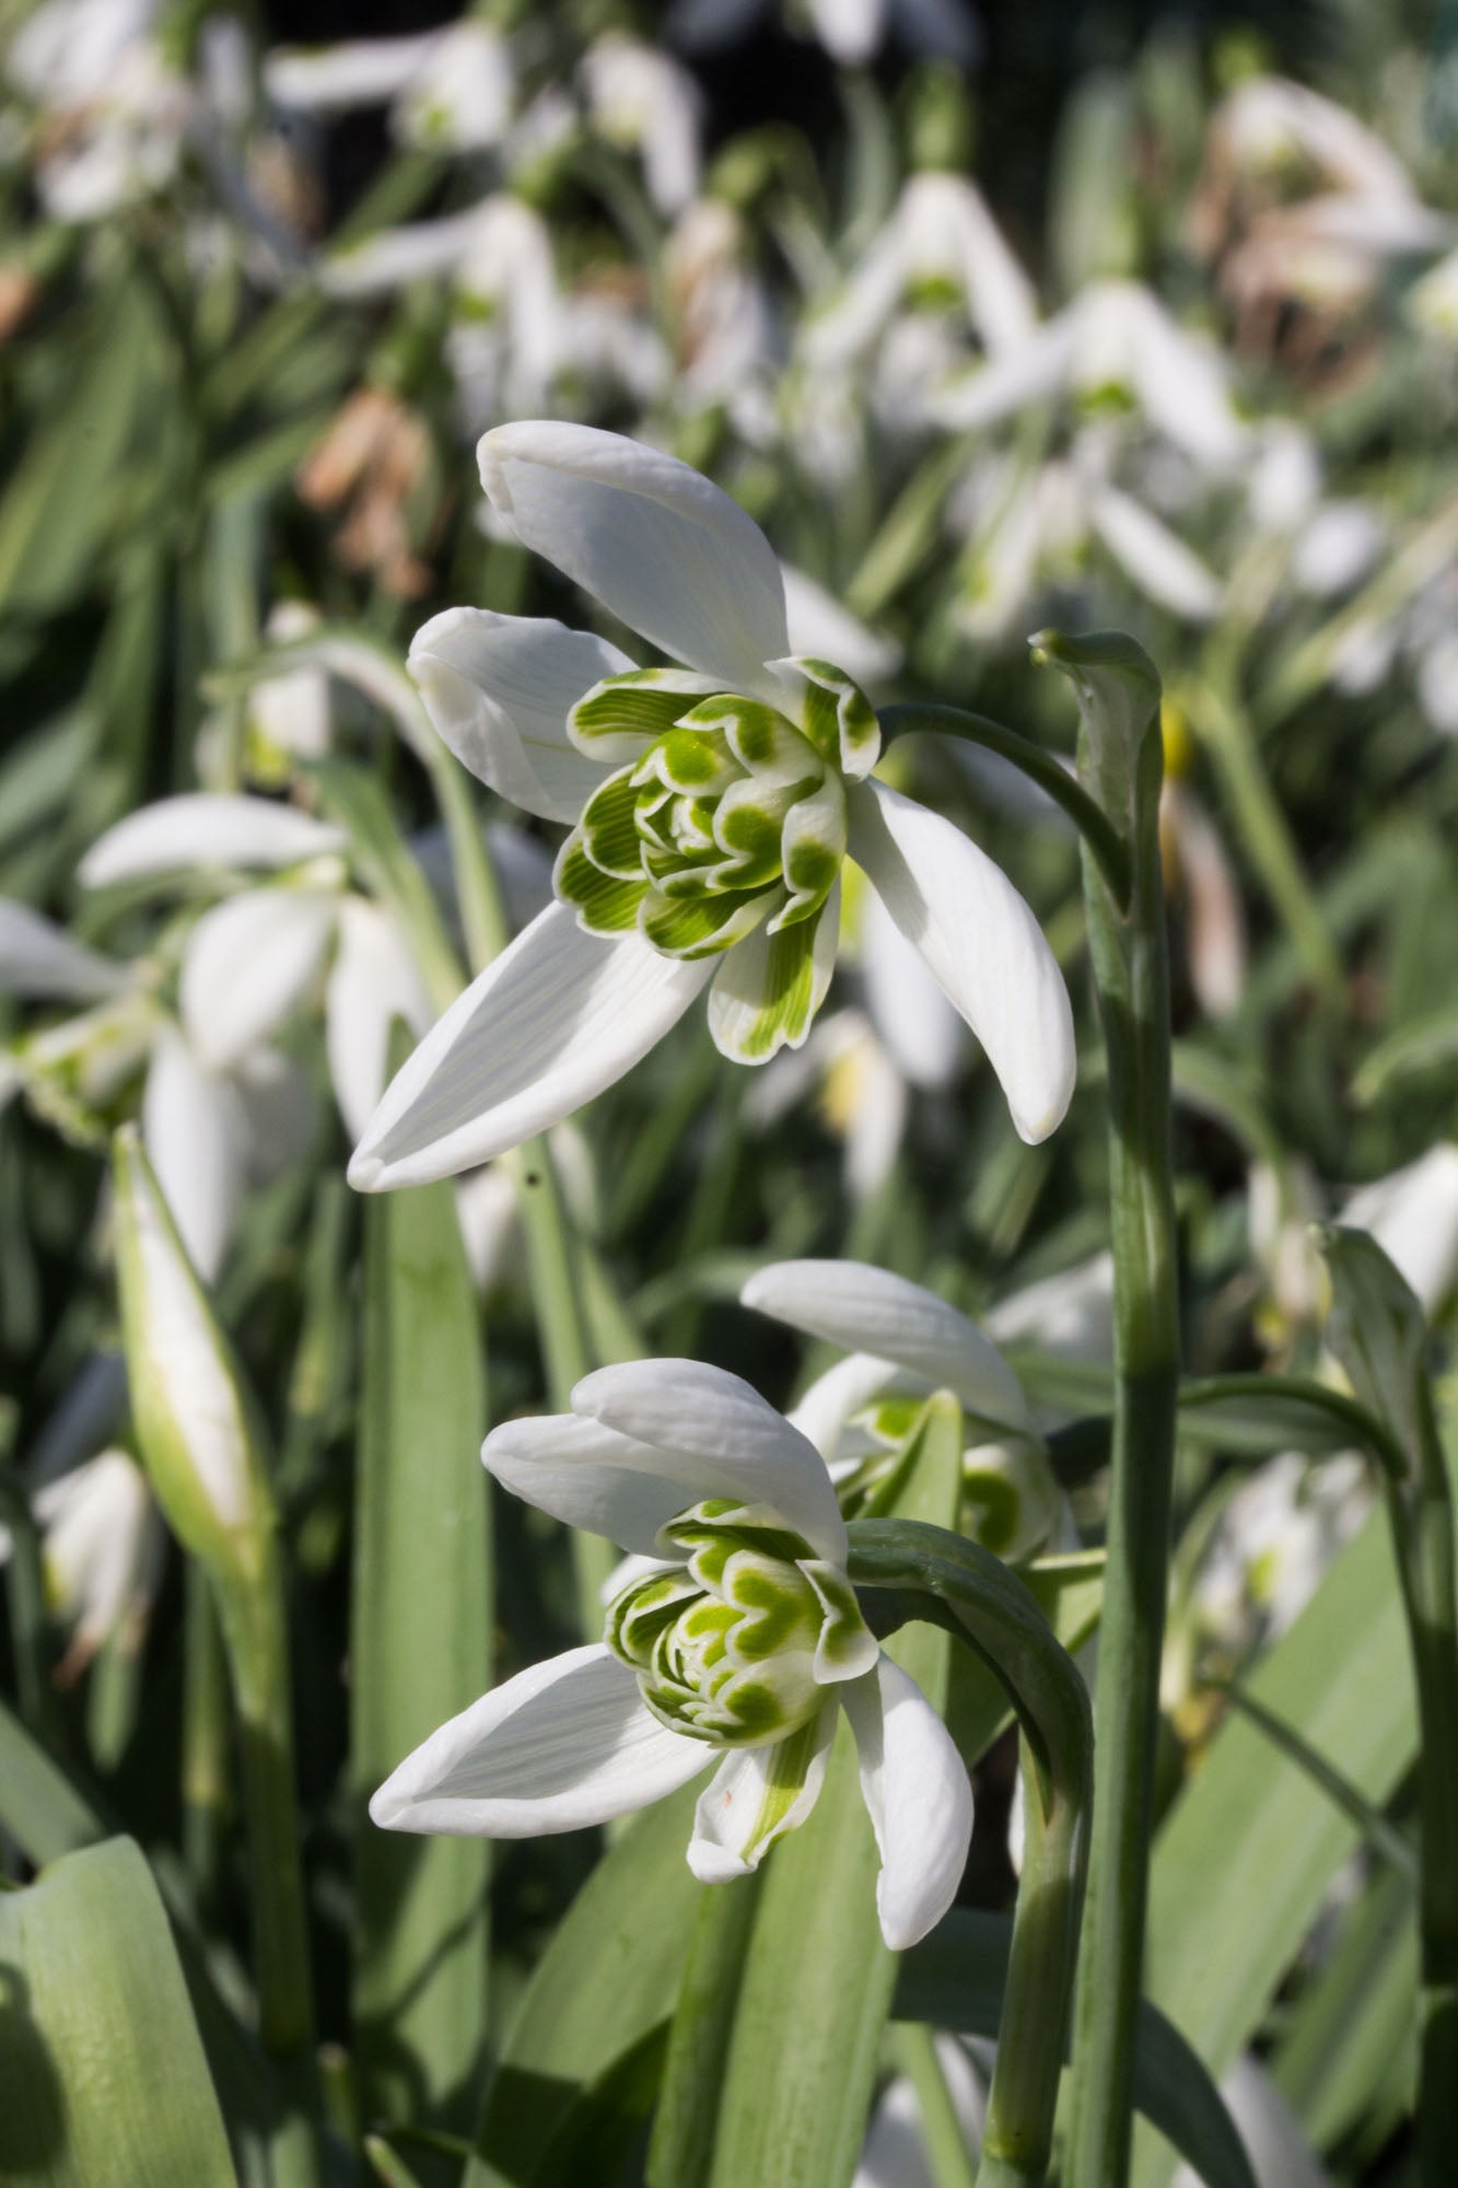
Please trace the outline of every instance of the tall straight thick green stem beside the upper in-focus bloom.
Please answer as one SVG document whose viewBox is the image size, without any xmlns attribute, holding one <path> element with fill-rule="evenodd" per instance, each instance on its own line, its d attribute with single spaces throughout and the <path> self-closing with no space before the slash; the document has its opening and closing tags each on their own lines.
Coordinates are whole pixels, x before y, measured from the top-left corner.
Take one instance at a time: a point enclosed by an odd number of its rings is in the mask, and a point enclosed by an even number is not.
<svg viewBox="0 0 1458 2188">
<path fill-rule="evenodd" d="M 1097 648 L 1099 641 L 1073 643 Z M 1057 659 L 1053 650 L 1051 656 Z M 1123 2188 L 1134 2118 L 1180 1378 L 1158 711 L 1134 735 L 1101 740 L 1097 709 L 1086 705 L 1079 775 L 1119 812 L 1132 849 L 1132 891 L 1121 910 L 1086 845 L 1088 939 L 1108 1050 L 1114 1424 L 1068 2184 Z"/>
</svg>

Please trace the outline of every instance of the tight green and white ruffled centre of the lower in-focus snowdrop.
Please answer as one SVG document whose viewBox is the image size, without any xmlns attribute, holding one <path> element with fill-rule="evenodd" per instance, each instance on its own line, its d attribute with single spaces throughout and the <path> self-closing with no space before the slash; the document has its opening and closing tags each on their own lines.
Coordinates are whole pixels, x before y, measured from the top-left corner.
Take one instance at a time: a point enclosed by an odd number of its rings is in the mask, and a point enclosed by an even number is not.
<svg viewBox="0 0 1458 2188">
<path fill-rule="evenodd" d="M 663 1527 L 687 1564 L 613 1599 L 606 1645 L 652 1715 L 716 1748 L 755 1748 L 819 1718 L 828 1687 L 876 1661 L 856 1591 L 757 1505 L 709 1499 Z"/>
</svg>

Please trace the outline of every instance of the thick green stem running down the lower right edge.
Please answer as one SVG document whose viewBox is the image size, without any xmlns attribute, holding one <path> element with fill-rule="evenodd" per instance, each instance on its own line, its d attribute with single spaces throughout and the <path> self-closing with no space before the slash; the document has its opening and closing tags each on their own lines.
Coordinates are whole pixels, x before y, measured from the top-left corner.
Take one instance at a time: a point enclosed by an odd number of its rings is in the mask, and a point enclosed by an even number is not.
<svg viewBox="0 0 1458 2188">
<path fill-rule="evenodd" d="M 1419 2181 L 1445 2188 L 1458 2151 L 1458 1610 L 1454 1499 L 1430 1392 L 1421 1403 L 1421 1466 L 1388 1486 L 1419 1704 Z"/>
</svg>

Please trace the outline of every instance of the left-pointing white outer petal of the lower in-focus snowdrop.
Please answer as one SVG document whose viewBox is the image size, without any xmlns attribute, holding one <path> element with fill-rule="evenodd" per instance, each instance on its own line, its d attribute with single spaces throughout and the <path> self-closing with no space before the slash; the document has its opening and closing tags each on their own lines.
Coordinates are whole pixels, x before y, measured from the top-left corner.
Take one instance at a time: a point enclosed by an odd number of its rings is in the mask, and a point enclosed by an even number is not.
<svg viewBox="0 0 1458 2188">
<path fill-rule="evenodd" d="M 407 1755 L 370 1801 L 385 1831 L 539 1838 L 626 1816 L 714 1761 L 652 1718 L 602 1641 L 534 1663 Z"/>
</svg>

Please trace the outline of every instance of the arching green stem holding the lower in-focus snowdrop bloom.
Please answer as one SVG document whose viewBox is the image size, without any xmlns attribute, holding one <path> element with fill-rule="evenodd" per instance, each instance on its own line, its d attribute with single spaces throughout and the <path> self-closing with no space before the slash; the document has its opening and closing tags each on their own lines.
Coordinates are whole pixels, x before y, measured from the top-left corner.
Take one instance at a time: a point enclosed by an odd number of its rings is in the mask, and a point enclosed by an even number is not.
<svg viewBox="0 0 1458 2188">
<path fill-rule="evenodd" d="M 1053 2149 L 1084 1912 L 1088 1689 L 1000 1558 L 917 1521 L 854 1521 L 847 1534 L 847 1573 L 876 1597 L 865 1604 L 873 1628 L 893 1632 L 906 1619 L 946 1626 L 990 1665 L 1022 1724 L 1027 1842 L 976 2179 L 979 2188 L 1038 2188 Z"/>
</svg>

